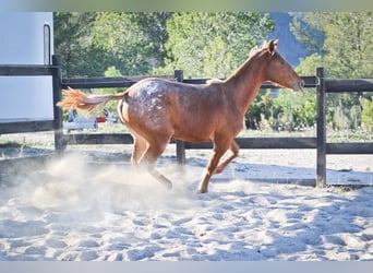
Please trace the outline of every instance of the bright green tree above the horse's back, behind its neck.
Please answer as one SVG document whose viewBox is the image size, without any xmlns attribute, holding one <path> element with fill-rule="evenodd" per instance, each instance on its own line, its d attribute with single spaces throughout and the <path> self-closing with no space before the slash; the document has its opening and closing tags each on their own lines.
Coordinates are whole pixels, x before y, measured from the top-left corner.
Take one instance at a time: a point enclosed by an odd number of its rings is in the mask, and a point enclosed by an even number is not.
<svg viewBox="0 0 373 273">
<path fill-rule="evenodd" d="M 185 76 L 226 78 L 273 29 L 268 14 L 175 13 L 167 22 L 166 66 L 154 71 L 169 74 L 182 69 Z"/>
</svg>

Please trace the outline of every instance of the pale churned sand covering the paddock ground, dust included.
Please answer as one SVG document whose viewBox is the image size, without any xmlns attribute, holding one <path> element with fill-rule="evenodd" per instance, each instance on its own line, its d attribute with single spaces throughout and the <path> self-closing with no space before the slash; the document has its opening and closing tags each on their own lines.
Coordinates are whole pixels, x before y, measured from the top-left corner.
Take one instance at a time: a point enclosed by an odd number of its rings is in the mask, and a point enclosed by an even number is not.
<svg viewBox="0 0 373 273">
<path fill-rule="evenodd" d="M 373 260 L 372 187 L 304 186 L 314 151 L 246 151 L 201 194 L 203 153 L 183 168 L 160 158 L 171 191 L 125 162 L 88 164 L 76 151 L 3 176 L 0 260 Z M 373 185 L 372 155 L 328 164 L 328 181 Z"/>
</svg>

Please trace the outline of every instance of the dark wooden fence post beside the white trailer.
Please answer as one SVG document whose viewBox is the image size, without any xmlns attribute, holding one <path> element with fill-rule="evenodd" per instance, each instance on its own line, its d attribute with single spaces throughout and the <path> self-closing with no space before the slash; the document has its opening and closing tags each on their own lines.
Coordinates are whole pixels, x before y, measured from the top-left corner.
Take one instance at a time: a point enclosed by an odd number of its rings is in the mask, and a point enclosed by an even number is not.
<svg viewBox="0 0 373 273">
<path fill-rule="evenodd" d="M 65 143 L 63 142 L 63 122 L 62 122 L 62 109 L 56 104 L 61 100 L 62 97 L 62 73 L 61 73 L 61 59 L 59 56 L 52 56 L 53 75 L 53 116 L 55 116 L 55 150 L 57 153 L 63 152 Z"/>
</svg>

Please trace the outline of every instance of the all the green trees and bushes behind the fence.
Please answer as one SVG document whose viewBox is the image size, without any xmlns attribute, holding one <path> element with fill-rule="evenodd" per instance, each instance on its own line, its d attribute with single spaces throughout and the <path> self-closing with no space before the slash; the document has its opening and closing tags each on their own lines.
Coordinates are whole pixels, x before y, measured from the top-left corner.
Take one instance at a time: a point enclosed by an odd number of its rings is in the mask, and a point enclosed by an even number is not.
<svg viewBox="0 0 373 273">
<path fill-rule="evenodd" d="M 309 52 L 297 68 L 300 75 L 325 67 L 328 79 L 373 78 L 372 12 L 292 15 L 290 29 Z M 268 14 L 251 12 L 56 12 L 55 51 L 68 78 L 173 74 L 182 69 L 185 78 L 221 79 L 273 31 Z M 260 91 L 245 115 L 251 128 L 314 126 L 314 90 L 275 93 Z M 334 129 L 372 130 L 371 102 L 372 93 L 327 94 L 327 122 Z"/>
</svg>

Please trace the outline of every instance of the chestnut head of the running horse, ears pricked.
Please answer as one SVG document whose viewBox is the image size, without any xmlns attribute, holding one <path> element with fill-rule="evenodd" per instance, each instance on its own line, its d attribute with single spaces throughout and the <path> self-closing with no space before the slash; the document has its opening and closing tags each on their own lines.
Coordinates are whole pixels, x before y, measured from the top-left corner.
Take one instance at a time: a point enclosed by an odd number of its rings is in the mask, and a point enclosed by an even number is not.
<svg viewBox="0 0 373 273">
<path fill-rule="evenodd" d="M 267 66 L 265 68 L 265 81 L 270 81 L 286 88 L 300 91 L 304 86 L 304 82 L 291 68 L 291 66 L 277 52 L 276 47 L 278 39 L 270 40 L 263 48 Z"/>
</svg>

